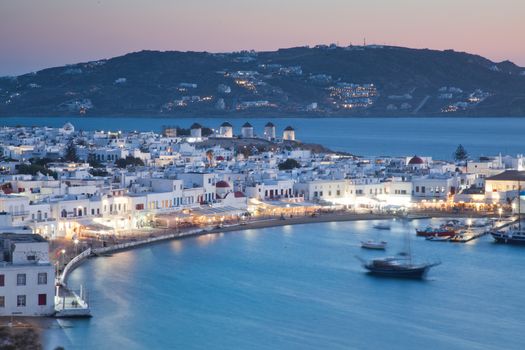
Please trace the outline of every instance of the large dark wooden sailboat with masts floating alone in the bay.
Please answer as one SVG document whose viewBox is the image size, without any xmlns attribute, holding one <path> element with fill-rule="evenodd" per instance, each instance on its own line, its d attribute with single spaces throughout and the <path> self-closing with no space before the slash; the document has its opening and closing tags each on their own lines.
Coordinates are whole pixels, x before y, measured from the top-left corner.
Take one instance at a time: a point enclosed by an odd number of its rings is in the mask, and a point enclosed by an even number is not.
<svg viewBox="0 0 525 350">
<path fill-rule="evenodd" d="M 426 276 L 430 268 L 437 266 L 440 263 L 415 263 L 412 261 L 412 250 L 410 247 L 410 237 L 407 233 L 407 252 L 398 254 L 397 256 L 385 257 L 380 259 L 373 259 L 366 261 L 362 258 L 358 259 L 362 262 L 363 267 L 369 271 L 370 274 L 394 277 L 394 278 L 415 278 L 422 279 Z"/>
</svg>

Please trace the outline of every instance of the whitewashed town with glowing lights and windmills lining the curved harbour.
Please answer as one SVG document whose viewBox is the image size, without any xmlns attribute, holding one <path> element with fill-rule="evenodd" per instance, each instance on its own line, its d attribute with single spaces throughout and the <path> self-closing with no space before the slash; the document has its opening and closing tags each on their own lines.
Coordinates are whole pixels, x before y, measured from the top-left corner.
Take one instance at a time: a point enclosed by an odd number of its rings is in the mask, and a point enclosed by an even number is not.
<svg viewBox="0 0 525 350">
<path fill-rule="evenodd" d="M 66 313 L 67 292 L 55 295 L 53 281 L 72 259 L 168 232 L 323 215 L 501 217 L 521 207 L 522 155 L 469 159 L 459 146 L 453 161 L 359 157 L 296 137 L 292 126 L 271 122 L 262 130 L 223 122 L 161 133 L 81 131 L 71 123 L 1 128 L 0 286 L 27 290 L 0 296 L 0 315 L 50 315 L 52 300 Z M 69 297 L 72 306 L 83 303 Z"/>
</svg>

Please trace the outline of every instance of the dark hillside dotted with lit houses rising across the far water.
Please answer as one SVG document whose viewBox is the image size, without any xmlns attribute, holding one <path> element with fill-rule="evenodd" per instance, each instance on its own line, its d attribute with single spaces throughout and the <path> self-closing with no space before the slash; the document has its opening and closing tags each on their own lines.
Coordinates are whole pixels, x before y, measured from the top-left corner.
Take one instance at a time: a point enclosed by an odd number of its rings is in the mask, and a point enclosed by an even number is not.
<svg viewBox="0 0 525 350">
<path fill-rule="evenodd" d="M 452 50 L 141 51 L 0 78 L 0 116 L 525 116 L 525 68 Z"/>
</svg>

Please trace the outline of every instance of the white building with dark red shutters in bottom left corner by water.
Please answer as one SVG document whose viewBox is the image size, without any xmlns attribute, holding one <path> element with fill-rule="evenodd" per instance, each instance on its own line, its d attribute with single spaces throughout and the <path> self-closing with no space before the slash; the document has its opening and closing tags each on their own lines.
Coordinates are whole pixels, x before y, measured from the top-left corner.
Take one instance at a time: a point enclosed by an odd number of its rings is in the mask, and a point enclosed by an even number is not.
<svg viewBox="0 0 525 350">
<path fill-rule="evenodd" d="M 54 313 L 55 270 L 39 235 L 0 235 L 0 316 Z"/>
</svg>

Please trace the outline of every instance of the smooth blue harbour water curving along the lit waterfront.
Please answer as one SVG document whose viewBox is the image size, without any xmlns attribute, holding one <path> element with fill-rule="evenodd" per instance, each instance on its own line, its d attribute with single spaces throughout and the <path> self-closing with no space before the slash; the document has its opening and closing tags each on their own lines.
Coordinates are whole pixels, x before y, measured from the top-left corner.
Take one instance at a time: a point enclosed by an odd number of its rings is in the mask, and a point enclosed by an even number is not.
<svg viewBox="0 0 525 350">
<path fill-rule="evenodd" d="M 434 222 L 435 224 L 436 222 Z M 413 234 L 428 220 L 323 223 L 247 230 L 92 259 L 93 318 L 59 320 L 46 348 L 66 349 L 523 349 L 525 275 L 519 247 Z M 364 273 L 360 241 L 440 259 L 425 281 Z"/>
</svg>

